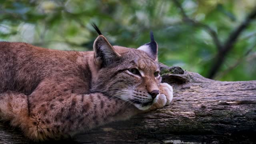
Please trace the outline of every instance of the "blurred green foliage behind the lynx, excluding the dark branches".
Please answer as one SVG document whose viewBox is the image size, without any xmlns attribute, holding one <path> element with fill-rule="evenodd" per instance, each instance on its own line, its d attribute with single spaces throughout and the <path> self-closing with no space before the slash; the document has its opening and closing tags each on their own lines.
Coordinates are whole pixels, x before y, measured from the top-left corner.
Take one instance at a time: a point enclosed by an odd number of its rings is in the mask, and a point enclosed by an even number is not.
<svg viewBox="0 0 256 144">
<path fill-rule="evenodd" d="M 178 0 L 189 18 L 210 26 L 220 41 L 228 38 L 255 8 L 256 0 Z M 159 60 L 168 66 L 206 76 L 217 48 L 204 28 L 182 21 L 172 0 L 1 0 L 0 40 L 21 41 L 58 50 L 92 50 L 95 22 L 112 45 L 159 46 Z M 242 32 L 217 80 L 256 80 L 256 21 Z M 255 47 L 255 45 L 254 45 Z M 234 64 L 237 64 L 234 68 Z M 226 72 L 225 70 L 230 69 Z"/>
</svg>

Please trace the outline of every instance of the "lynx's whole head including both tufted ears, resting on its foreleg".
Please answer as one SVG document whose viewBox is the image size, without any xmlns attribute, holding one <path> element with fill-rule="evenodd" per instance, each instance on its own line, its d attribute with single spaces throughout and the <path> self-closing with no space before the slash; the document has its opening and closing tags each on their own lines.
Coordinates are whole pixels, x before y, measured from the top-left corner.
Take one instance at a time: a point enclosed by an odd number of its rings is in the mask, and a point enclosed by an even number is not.
<svg viewBox="0 0 256 144">
<path fill-rule="evenodd" d="M 158 100 L 161 82 L 158 46 L 151 42 L 137 49 L 112 46 L 93 25 L 99 36 L 94 41 L 94 64 L 98 67 L 92 80 L 92 92 L 102 92 L 147 110 Z"/>
</svg>

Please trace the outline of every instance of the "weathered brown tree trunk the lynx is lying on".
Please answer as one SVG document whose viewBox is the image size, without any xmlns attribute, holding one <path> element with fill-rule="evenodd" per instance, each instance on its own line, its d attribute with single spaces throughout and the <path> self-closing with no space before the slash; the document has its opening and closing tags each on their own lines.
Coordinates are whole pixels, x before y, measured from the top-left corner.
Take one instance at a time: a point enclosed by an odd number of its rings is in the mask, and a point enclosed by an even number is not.
<svg viewBox="0 0 256 144">
<path fill-rule="evenodd" d="M 99 144 L 254 142 L 256 81 L 220 82 L 164 65 L 161 71 L 163 81 L 174 88 L 170 106 L 101 126 L 68 141 Z M 20 130 L 0 122 L 0 143 L 28 142 Z"/>
</svg>

